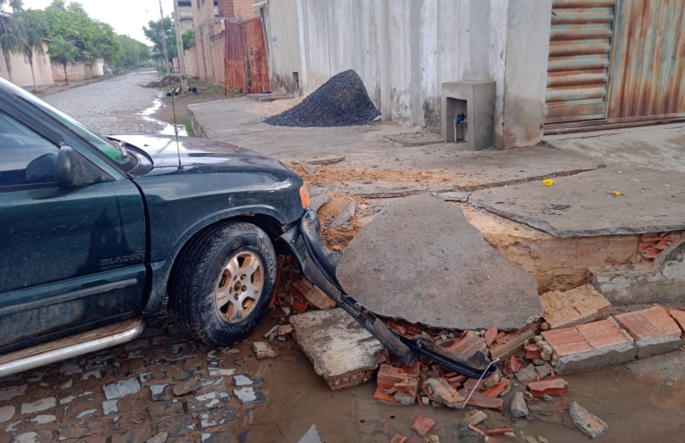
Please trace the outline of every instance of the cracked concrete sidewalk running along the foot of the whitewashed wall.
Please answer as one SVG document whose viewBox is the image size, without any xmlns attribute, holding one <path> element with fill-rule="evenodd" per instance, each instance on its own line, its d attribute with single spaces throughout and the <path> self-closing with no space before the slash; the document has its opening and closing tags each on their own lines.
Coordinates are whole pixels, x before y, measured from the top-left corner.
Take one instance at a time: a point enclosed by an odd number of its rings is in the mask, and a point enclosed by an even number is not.
<svg viewBox="0 0 685 443">
<path fill-rule="evenodd" d="M 274 127 L 249 111 L 256 105 L 238 98 L 189 109 L 196 133 L 289 162 L 314 193 L 339 190 L 369 198 L 456 191 L 456 199 L 557 237 L 685 230 L 685 124 L 472 151 L 465 143 L 392 141 L 435 138 L 393 124 Z M 332 156 L 345 161 L 297 165 Z M 543 186 L 545 178 L 556 181 Z"/>
</svg>

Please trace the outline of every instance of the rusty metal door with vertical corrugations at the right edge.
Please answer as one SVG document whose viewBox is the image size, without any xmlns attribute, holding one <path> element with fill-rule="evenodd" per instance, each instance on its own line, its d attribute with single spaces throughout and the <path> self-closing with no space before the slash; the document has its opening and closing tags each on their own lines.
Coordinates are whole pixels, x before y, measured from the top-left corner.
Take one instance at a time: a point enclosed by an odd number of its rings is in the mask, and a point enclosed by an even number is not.
<svg viewBox="0 0 685 443">
<path fill-rule="evenodd" d="M 685 116 L 685 0 L 619 0 L 608 122 Z"/>
</svg>

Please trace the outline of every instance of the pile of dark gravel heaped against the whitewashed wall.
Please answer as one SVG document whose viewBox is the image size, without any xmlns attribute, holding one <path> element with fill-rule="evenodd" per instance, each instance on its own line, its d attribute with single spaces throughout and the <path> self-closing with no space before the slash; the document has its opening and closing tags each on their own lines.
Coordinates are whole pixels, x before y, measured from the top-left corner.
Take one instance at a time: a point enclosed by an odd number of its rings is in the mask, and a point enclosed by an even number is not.
<svg viewBox="0 0 685 443">
<path fill-rule="evenodd" d="M 341 72 L 302 103 L 265 120 L 274 126 L 329 127 L 368 124 L 381 115 L 352 69 Z"/>
</svg>

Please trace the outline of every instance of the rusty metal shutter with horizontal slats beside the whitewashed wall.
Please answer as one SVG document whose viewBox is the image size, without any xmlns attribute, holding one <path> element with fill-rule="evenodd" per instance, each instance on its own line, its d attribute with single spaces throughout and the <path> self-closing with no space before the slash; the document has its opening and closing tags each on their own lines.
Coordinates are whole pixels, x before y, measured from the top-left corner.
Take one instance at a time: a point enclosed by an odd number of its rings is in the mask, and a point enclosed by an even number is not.
<svg viewBox="0 0 685 443">
<path fill-rule="evenodd" d="M 615 0 L 554 0 L 545 123 L 604 119 Z"/>
</svg>

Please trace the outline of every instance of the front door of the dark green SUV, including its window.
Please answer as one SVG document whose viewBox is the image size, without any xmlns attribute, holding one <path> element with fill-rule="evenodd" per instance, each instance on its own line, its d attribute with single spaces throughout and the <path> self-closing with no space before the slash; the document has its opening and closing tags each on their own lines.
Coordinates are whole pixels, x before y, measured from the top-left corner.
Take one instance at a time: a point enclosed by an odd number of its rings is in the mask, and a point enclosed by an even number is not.
<svg viewBox="0 0 685 443">
<path fill-rule="evenodd" d="M 65 138 L 12 104 L 0 95 L 0 354 L 132 317 L 146 278 L 137 186 L 110 170 L 60 188 Z"/>
</svg>

